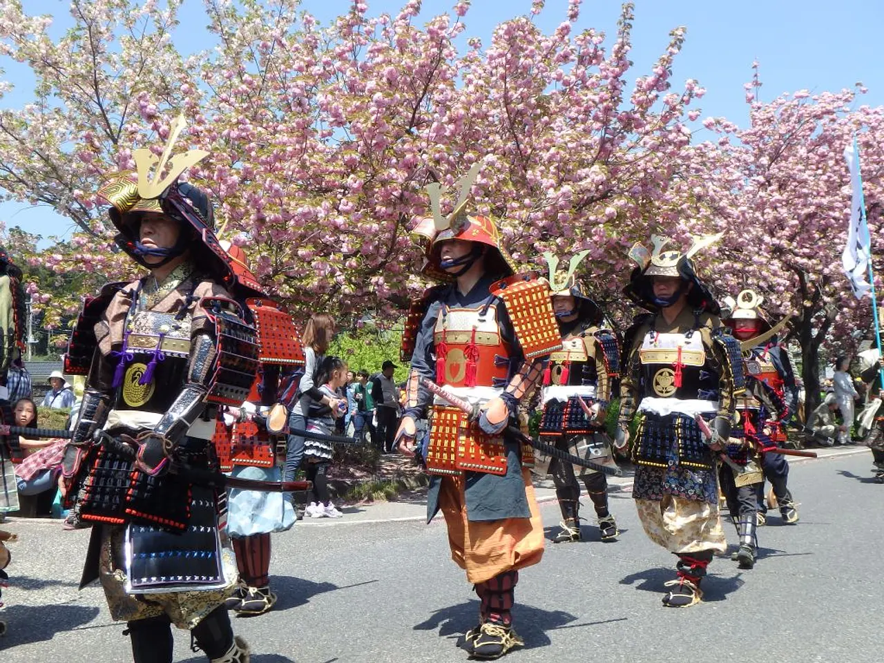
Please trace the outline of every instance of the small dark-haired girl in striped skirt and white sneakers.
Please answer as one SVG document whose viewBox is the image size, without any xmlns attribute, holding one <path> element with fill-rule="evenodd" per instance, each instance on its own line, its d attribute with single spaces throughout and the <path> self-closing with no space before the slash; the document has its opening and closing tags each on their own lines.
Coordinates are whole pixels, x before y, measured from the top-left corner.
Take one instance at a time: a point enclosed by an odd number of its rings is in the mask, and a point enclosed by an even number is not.
<svg viewBox="0 0 884 663">
<path fill-rule="evenodd" d="M 334 431 L 335 419 L 343 415 L 347 408 L 346 400 L 338 400 L 335 394 L 347 382 L 347 364 L 339 357 L 325 357 L 319 367 L 317 383 L 319 391 L 332 401 L 332 405 L 323 405 L 315 400 L 309 408 L 307 418 L 308 431 L 329 434 Z M 339 408 L 332 408 L 337 401 Z M 307 461 L 307 479 L 313 487 L 309 492 L 309 507 L 304 512 L 311 518 L 340 518 L 341 513 L 331 504 L 326 474 L 331 466 L 331 444 L 317 439 L 307 440 L 304 455 Z"/>
</svg>

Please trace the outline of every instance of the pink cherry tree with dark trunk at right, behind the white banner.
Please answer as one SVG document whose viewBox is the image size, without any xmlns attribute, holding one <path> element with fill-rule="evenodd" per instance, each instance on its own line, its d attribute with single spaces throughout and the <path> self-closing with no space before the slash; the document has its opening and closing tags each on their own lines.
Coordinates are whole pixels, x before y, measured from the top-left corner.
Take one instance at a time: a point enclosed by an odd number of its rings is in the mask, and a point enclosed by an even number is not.
<svg viewBox="0 0 884 663">
<path fill-rule="evenodd" d="M 857 135 L 865 202 L 880 261 L 884 109 L 858 105 L 865 92 L 799 91 L 759 103 L 747 85 L 750 126 L 707 118 L 717 141 L 697 144 L 689 226 L 724 231 L 714 285 L 720 293 L 751 287 L 766 297 L 774 322 L 791 315 L 789 338 L 801 346 L 808 408 L 819 404 L 820 348 L 850 354 L 871 324 L 871 301 L 857 301 L 842 273 L 850 217 L 850 174 L 843 151 Z M 878 271 L 880 267 L 878 265 Z M 880 287 L 880 286 L 879 286 Z M 869 337 L 866 337 L 869 338 Z"/>
</svg>

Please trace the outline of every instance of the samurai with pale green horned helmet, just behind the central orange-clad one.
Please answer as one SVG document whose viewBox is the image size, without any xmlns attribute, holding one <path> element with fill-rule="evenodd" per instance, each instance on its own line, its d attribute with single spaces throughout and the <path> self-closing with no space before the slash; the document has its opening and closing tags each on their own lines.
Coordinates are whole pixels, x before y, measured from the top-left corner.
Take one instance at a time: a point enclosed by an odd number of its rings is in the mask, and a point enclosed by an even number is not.
<svg viewBox="0 0 884 663">
<path fill-rule="evenodd" d="M 601 309 L 583 293 L 575 277 L 577 267 L 588 253 L 575 255 L 565 274 L 556 273 L 558 259 L 545 254 L 550 266 L 552 309 L 559 323 L 562 348 L 550 354 L 544 370 L 540 435 L 552 438 L 562 451 L 616 467 L 604 425 L 612 383 L 620 373 L 620 347 L 617 337 L 601 327 Z M 540 458 L 538 456 L 538 463 Z M 552 474 L 562 517 L 561 531 L 553 539 L 554 543 L 580 541 L 577 476 L 595 507 L 601 540 L 613 541 L 619 536 L 617 523 L 608 510 L 604 473 L 575 469 L 568 461 L 558 458 L 552 458 L 548 471 Z"/>
</svg>

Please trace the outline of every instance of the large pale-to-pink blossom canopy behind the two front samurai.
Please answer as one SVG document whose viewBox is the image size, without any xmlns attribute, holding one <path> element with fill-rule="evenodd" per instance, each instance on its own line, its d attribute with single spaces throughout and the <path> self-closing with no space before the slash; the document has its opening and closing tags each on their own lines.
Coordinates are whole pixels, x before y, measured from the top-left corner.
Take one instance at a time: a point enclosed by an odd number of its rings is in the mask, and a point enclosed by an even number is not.
<svg viewBox="0 0 884 663">
<path fill-rule="evenodd" d="M 671 88 L 683 28 L 636 78 L 631 4 L 610 39 L 577 29 L 577 0 L 545 34 L 536 2 L 461 52 L 467 2 L 423 26 L 416 0 L 395 16 L 354 2 L 322 27 L 296 0 L 207 0 L 215 48 L 183 57 L 171 41 L 180 2 L 74 0 L 75 27 L 53 41 L 49 19 L 0 0 L 4 53 L 37 80 L 34 103 L 0 113 L 0 187 L 80 228 L 65 250 L 34 260 L 132 274 L 110 251 L 95 192 L 109 171 L 133 169 L 133 149 L 161 143 L 181 111 L 182 148 L 211 153 L 190 179 L 210 190 L 222 234 L 294 309 L 397 315 L 423 286 L 408 237 L 427 211 L 423 187 L 474 163 L 476 207 L 499 218 L 517 259 L 591 248 L 603 299 L 645 219 L 680 204 L 674 169 L 704 90 L 694 80 Z"/>
</svg>

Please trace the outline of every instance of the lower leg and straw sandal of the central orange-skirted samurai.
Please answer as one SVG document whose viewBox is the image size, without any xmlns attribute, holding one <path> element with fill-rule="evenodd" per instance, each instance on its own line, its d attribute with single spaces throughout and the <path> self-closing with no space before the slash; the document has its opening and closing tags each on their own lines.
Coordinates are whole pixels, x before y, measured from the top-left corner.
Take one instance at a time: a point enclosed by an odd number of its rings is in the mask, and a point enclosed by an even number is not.
<svg viewBox="0 0 884 663">
<path fill-rule="evenodd" d="M 467 633 L 470 653 L 475 659 L 499 659 L 524 641 L 513 630 L 512 609 L 518 571 L 505 571 L 476 585 L 479 595 L 479 625 Z"/>
</svg>

